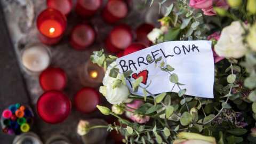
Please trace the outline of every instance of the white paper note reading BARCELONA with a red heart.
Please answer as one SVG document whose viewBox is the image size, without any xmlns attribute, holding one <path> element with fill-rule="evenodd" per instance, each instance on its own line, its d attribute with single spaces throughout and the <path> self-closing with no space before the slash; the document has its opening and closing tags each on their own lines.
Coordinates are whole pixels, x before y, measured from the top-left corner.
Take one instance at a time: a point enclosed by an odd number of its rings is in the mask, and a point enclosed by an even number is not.
<svg viewBox="0 0 256 144">
<path fill-rule="evenodd" d="M 151 55 L 153 61 L 147 60 Z M 134 80 L 143 76 L 141 86 L 148 86 L 147 90 L 153 94 L 170 92 L 174 83 L 169 81 L 170 74 L 162 71 L 155 60 L 162 57 L 165 65 L 174 68 L 179 77 L 180 89 L 187 89 L 186 94 L 196 97 L 213 98 L 214 62 L 210 41 L 175 41 L 157 44 L 147 49 L 125 55 L 116 60 L 121 73 L 133 70 L 130 79 Z M 132 91 L 131 83 L 126 80 L 126 85 Z M 179 92 L 179 87 L 174 86 L 172 92 Z M 139 88 L 137 95 L 144 95 Z M 148 94 L 149 95 L 149 94 Z"/>
</svg>

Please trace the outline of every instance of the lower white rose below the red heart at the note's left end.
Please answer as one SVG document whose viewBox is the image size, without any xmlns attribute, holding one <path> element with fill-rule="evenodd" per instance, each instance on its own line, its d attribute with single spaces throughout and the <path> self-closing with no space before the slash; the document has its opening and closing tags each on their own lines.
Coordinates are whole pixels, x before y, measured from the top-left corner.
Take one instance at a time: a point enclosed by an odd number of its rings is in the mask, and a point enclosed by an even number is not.
<svg viewBox="0 0 256 144">
<path fill-rule="evenodd" d="M 127 86 L 121 84 L 119 87 L 113 89 L 113 83 L 107 84 L 106 99 L 112 105 L 120 104 L 127 100 L 130 92 Z"/>
</svg>

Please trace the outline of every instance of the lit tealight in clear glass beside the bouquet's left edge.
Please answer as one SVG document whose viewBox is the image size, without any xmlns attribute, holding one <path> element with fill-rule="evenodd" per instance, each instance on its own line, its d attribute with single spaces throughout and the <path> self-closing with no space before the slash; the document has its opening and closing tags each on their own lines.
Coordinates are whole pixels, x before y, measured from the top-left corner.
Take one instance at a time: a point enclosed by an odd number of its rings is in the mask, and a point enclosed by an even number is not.
<svg viewBox="0 0 256 144">
<path fill-rule="evenodd" d="M 87 60 L 85 65 L 78 72 L 79 79 L 84 86 L 97 87 L 102 83 L 104 70 L 91 60 Z"/>
</svg>

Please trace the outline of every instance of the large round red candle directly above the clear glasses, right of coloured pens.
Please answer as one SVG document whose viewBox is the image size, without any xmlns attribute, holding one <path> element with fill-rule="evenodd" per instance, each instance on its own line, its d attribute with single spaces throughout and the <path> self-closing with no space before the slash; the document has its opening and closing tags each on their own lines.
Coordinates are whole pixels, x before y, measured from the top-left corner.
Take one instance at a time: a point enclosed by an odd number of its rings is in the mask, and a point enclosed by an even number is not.
<svg viewBox="0 0 256 144">
<path fill-rule="evenodd" d="M 43 93 L 37 100 L 38 116 L 46 123 L 58 124 L 69 116 L 71 102 L 68 96 L 58 90 Z"/>
</svg>

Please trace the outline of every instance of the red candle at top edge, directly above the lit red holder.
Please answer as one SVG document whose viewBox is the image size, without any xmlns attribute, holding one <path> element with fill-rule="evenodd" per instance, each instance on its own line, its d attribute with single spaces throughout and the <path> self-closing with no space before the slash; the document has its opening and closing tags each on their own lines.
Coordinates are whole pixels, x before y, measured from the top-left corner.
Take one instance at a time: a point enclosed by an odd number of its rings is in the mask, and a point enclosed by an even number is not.
<svg viewBox="0 0 256 144">
<path fill-rule="evenodd" d="M 47 0 L 46 5 L 68 15 L 72 10 L 72 0 Z"/>
</svg>

